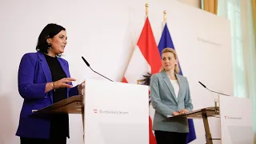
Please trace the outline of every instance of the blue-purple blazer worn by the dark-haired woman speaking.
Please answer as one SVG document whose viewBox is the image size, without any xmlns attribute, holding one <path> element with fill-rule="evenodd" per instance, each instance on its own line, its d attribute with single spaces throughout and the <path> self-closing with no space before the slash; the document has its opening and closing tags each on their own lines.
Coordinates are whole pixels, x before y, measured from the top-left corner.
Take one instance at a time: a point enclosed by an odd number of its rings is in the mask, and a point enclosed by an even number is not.
<svg viewBox="0 0 256 144">
<path fill-rule="evenodd" d="M 63 58 L 58 62 L 70 78 L 69 65 Z M 53 90 L 45 93 L 46 82 L 52 82 L 50 68 L 41 52 L 24 54 L 18 69 L 18 91 L 24 99 L 16 135 L 23 138 L 49 138 L 50 115 L 32 115 L 32 110 L 53 104 Z M 72 83 L 69 83 L 72 85 Z M 67 98 L 78 95 L 78 87 L 67 88 Z"/>
</svg>

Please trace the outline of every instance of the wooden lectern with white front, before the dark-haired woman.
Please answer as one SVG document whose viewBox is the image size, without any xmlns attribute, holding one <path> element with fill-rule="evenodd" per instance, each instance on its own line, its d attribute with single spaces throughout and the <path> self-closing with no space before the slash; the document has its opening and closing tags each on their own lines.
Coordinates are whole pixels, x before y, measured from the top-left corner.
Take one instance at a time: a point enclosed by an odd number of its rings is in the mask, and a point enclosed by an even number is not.
<svg viewBox="0 0 256 144">
<path fill-rule="evenodd" d="M 86 144 L 149 143 L 148 86 L 86 79 L 82 94 L 33 113 L 82 114 Z"/>
</svg>

